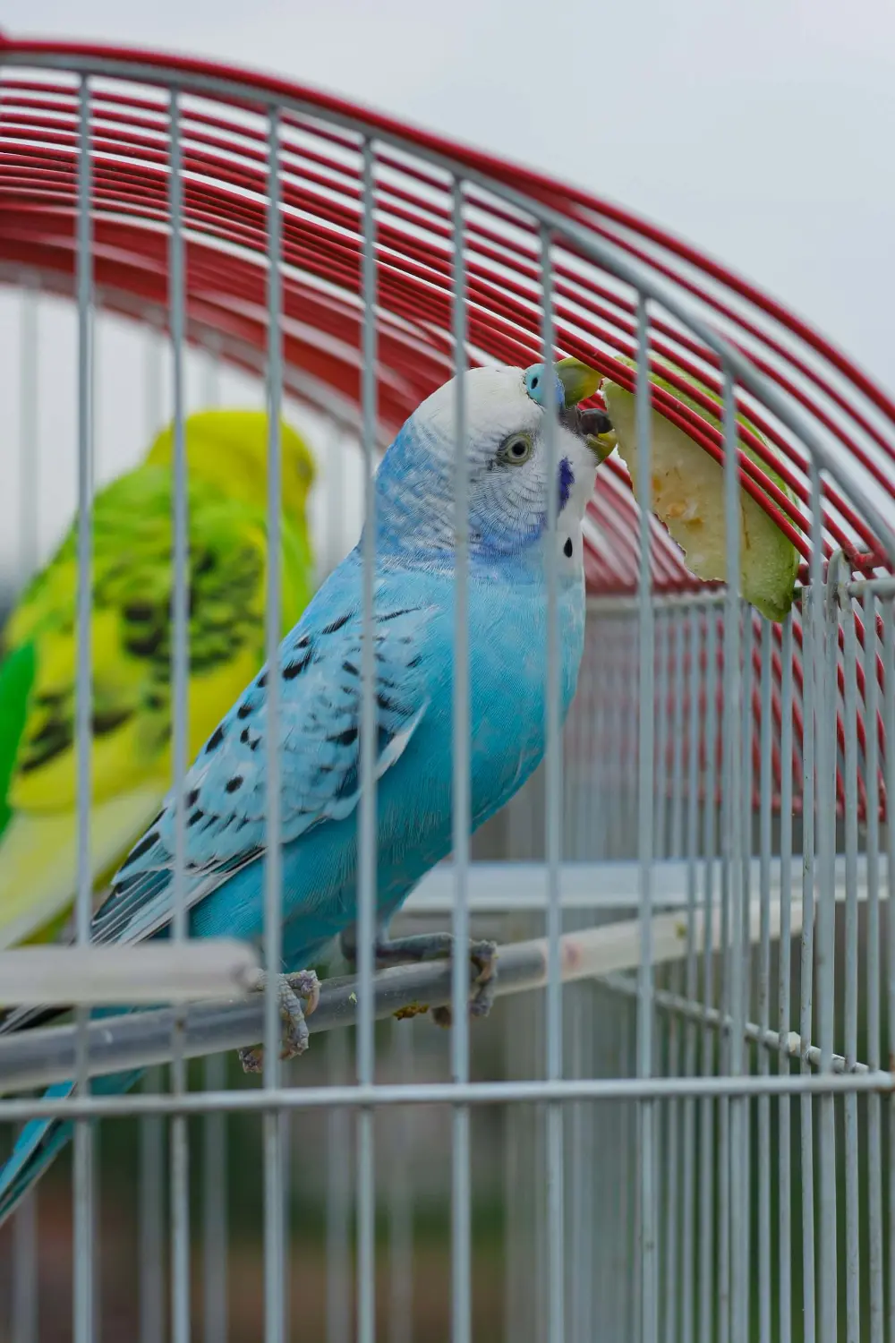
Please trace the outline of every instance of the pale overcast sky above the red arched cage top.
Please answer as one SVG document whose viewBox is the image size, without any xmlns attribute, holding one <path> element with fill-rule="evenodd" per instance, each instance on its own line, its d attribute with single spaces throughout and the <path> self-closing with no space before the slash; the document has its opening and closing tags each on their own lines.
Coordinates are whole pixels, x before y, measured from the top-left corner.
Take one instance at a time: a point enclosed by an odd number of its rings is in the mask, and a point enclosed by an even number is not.
<svg viewBox="0 0 895 1343">
<path fill-rule="evenodd" d="M 279 71 L 577 181 L 895 387 L 895 3 L 565 0 L 549 15 L 529 0 L 5 0 L 3 24 Z M 0 317 L 5 351 L 8 305 Z"/>
</svg>

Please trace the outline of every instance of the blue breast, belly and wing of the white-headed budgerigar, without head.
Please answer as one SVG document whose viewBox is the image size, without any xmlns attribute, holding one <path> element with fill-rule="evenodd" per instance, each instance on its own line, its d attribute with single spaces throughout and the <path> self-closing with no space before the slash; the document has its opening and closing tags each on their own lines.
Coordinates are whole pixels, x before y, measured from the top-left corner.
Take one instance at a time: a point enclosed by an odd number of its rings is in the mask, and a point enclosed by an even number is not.
<svg viewBox="0 0 895 1343">
<path fill-rule="evenodd" d="M 360 563 L 337 571 L 280 649 L 284 959 L 354 916 L 360 787 Z M 384 576 L 376 592 L 376 713 L 384 912 L 450 851 L 454 577 Z M 584 610 L 560 595 L 564 710 Z M 474 823 L 496 811 L 543 753 L 545 604 L 490 571 L 470 586 Z M 267 670 L 189 771 L 187 902 L 195 936 L 258 939 L 263 924 Z M 95 920 L 97 940 L 164 935 L 172 911 L 173 802 L 133 850 Z M 290 923 L 307 920 L 306 939 Z M 298 943 L 302 945 L 299 947 Z M 291 944 L 291 950 L 290 950 Z M 291 966 L 290 968 L 301 968 Z"/>
</svg>

